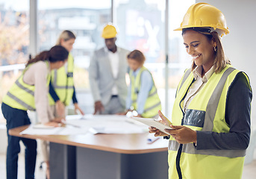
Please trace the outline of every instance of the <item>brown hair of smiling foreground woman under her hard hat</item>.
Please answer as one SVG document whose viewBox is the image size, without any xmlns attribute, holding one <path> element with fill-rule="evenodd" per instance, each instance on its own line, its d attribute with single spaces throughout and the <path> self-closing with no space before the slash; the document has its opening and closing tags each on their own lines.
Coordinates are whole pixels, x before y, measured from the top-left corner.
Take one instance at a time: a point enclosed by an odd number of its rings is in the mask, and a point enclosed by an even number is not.
<svg viewBox="0 0 256 179">
<path fill-rule="evenodd" d="M 222 69 L 225 69 L 225 66 L 227 64 L 231 65 L 230 60 L 228 60 L 227 57 L 225 57 L 224 49 L 222 47 L 222 42 L 219 37 L 219 34 L 216 31 L 210 32 L 210 29 L 207 28 L 185 28 L 182 31 L 182 34 L 184 34 L 187 30 L 192 30 L 199 32 L 200 34 L 205 35 L 207 37 L 207 40 L 213 40 L 216 43 L 216 50 L 214 49 L 214 65 L 216 66 L 215 72 L 219 73 L 222 72 Z M 209 30 L 209 31 L 208 31 Z M 193 61 L 192 63 L 192 70 L 196 69 L 196 63 Z"/>
</svg>

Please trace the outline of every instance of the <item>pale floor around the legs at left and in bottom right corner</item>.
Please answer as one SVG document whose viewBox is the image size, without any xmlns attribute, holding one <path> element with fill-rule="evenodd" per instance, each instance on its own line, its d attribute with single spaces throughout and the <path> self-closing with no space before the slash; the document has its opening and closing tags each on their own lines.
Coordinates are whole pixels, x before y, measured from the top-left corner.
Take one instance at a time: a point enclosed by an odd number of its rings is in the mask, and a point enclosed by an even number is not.
<svg viewBox="0 0 256 179">
<path fill-rule="evenodd" d="M 46 166 L 43 166 L 43 169 L 40 169 L 40 162 L 42 161 L 42 158 L 40 154 L 37 155 L 37 168 L 35 177 L 36 179 L 46 179 L 45 169 Z M 18 171 L 18 179 L 24 179 L 24 155 L 19 155 L 19 171 Z M 0 154 L 0 174 L 2 179 L 6 179 L 5 175 L 5 155 Z M 252 179 L 256 176 L 256 149 L 255 149 L 255 156 L 252 163 L 249 163 L 244 166 L 243 169 L 243 178 L 242 179 Z"/>
</svg>

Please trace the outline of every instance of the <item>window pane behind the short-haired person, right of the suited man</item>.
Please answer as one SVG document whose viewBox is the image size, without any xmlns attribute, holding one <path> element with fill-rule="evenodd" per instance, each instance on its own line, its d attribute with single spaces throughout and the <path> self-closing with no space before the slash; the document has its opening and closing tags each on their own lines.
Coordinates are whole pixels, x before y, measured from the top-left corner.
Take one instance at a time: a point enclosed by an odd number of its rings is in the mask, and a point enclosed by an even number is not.
<svg viewBox="0 0 256 179">
<path fill-rule="evenodd" d="M 152 72 L 163 101 L 165 1 L 116 0 L 113 14 L 113 23 L 119 30 L 117 45 L 143 52 L 146 57 L 144 65 Z"/>
</svg>

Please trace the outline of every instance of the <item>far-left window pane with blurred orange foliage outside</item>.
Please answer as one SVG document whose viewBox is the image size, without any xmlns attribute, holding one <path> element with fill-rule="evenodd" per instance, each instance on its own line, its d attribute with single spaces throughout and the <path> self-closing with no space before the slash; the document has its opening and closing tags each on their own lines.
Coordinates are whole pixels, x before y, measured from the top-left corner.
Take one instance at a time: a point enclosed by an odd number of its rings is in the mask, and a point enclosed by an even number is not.
<svg viewBox="0 0 256 179">
<path fill-rule="evenodd" d="M 28 61 L 29 1 L 0 0 L 0 102 Z M 1 116 L 0 122 L 5 122 Z"/>
</svg>

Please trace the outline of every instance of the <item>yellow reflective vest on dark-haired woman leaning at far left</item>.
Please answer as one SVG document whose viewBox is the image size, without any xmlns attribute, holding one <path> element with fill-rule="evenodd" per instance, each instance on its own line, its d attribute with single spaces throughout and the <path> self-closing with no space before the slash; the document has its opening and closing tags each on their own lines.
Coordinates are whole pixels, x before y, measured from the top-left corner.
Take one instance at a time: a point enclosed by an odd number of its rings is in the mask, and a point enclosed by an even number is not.
<svg viewBox="0 0 256 179">
<path fill-rule="evenodd" d="M 49 67 L 49 61 L 46 60 L 46 64 Z M 34 101 L 34 90 L 35 86 L 30 84 L 25 84 L 23 77 L 25 72 L 28 70 L 33 63 L 28 65 L 22 72 L 22 75 L 16 80 L 10 90 L 4 95 L 3 103 L 9 105 L 10 107 L 19 110 L 36 110 Z M 46 87 L 49 86 L 51 74 L 47 76 Z"/>
</svg>

